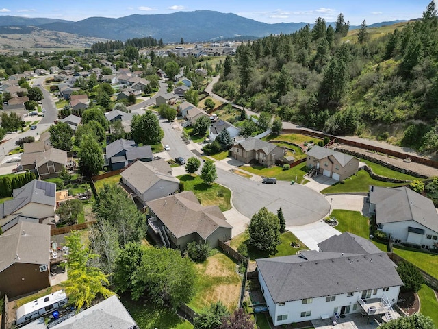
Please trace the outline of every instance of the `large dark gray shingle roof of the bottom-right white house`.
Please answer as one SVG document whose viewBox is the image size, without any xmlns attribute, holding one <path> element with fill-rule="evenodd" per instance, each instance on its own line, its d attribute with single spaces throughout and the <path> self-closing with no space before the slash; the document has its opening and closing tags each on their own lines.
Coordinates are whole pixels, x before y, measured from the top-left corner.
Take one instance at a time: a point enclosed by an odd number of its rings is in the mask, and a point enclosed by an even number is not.
<svg viewBox="0 0 438 329">
<path fill-rule="evenodd" d="M 293 255 L 256 260 L 274 302 L 402 285 L 394 263 L 385 253 L 357 256 L 305 253 L 310 254 L 319 259 Z"/>
</svg>

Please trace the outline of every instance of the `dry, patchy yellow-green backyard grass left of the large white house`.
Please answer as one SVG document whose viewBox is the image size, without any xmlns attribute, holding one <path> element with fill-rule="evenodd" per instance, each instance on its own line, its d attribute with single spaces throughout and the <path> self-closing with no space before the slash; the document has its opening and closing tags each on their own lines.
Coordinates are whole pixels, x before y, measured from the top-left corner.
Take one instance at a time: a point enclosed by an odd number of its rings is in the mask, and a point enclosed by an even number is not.
<svg viewBox="0 0 438 329">
<path fill-rule="evenodd" d="M 237 263 L 222 252 L 216 252 L 196 267 L 199 273 L 196 295 L 188 306 L 199 313 L 210 303 L 220 300 L 230 311 L 235 310 L 242 285 L 242 276 L 236 271 Z"/>
</svg>

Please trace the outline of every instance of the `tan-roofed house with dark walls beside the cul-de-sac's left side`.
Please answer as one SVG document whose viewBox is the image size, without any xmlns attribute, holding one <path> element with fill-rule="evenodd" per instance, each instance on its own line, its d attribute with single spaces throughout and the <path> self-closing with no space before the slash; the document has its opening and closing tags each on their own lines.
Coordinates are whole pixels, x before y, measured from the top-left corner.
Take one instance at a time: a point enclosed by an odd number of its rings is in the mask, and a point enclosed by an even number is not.
<svg viewBox="0 0 438 329">
<path fill-rule="evenodd" d="M 184 250 L 191 241 L 218 246 L 231 239 L 232 226 L 218 206 L 201 206 L 193 191 L 184 191 L 147 203 L 149 233 L 159 234 L 166 247 Z"/>
</svg>

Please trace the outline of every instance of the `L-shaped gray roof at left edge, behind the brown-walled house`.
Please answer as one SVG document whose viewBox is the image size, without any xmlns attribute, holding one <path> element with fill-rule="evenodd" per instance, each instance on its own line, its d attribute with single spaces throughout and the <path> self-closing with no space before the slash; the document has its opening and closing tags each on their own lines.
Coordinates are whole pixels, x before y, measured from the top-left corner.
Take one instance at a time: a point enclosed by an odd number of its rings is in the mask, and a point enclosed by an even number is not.
<svg viewBox="0 0 438 329">
<path fill-rule="evenodd" d="M 43 182 L 42 180 L 32 180 L 21 188 L 13 191 L 14 199 L 3 203 L 3 217 L 8 216 L 16 210 L 23 208 L 29 202 L 36 204 L 46 204 L 55 206 L 56 203 L 56 184 Z"/>
</svg>

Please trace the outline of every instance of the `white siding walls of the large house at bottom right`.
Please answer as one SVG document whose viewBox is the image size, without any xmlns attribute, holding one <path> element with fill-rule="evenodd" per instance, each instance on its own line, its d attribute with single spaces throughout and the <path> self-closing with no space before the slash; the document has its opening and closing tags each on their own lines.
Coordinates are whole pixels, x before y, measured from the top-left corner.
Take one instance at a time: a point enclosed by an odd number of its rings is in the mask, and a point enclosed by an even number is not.
<svg viewBox="0 0 438 329">
<path fill-rule="evenodd" d="M 336 295 L 335 300 L 331 302 L 326 302 L 326 297 L 316 297 L 313 298 L 312 302 L 309 304 L 302 304 L 302 300 L 295 300 L 292 302 L 285 302 L 284 305 L 275 304 L 272 301 L 272 297 L 266 287 L 266 283 L 263 277 L 259 273 L 259 281 L 261 286 L 261 291 L 266 300 L 266 306 L 268 306 L 269 315 L 272 317 L 274 326 L 281 326 L 282 324 L 291 324 L 293 322 L 307 321 L 320 319 L 321 315 L 333 315 L 335 313 L 335 308 L 337 308 L 337 313 L 340 314 L 342 306 L 350 306 L 350 313 L 359 313 L 361 306 L 357 304 L 358 300 L 361 299 L 362 291 L 355 291 L 352 296 L 347 297 L 347 293 Z M 372 289 L 373 290 L 373 289 Z M 384 294 L 388 298 L 391 304 L 394 304 L 398 299 L 398 293 L 400 292 L 400 286 L 389 287 L 389 291 L 383 291 L 383 288 L 377 289 L 375 295 L 372 291 L 371 298 L 381 298 Z M 357 306 L 354 308 L 355 304 Z M 309 317 L 301 317 L 302 312 L 310 311 L 311 315 Z M 287 315 L 286 320 L 279 321 L 277 317 L 279 315 Z"/>
</svg>

